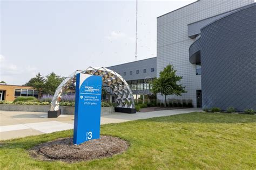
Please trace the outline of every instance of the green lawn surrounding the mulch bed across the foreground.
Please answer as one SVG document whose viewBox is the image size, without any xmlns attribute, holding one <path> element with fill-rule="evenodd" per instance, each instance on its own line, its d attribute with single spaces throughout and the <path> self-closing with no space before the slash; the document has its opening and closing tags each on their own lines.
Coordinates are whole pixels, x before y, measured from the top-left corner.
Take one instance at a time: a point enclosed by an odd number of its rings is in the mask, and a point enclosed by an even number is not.
<svg viewBox="0 0 256 170">
<path fill-rule="evenodd" d="M 28 149 L 72 131 L 2 141 L 1 169 L 254 169 L 256 116 L 193 113 L 102 126 L 101 134 L 126 139 L 130 148 L 112 158 L 68 164 L 32 159 Z"/>
</svg>

